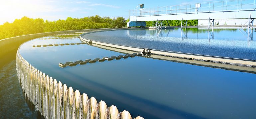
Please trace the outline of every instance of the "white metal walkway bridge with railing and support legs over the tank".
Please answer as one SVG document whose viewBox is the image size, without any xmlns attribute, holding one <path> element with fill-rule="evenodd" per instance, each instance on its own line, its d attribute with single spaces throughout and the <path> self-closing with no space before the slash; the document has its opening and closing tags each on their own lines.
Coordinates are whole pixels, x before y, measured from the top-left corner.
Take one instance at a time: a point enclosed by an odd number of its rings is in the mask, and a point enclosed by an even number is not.
<svg viewBox="0 0 256 119">
<path fill-rule="evenodd" d="M 214 26 L 214 19 L 248 19 L 248 29 L 256 18 L 255 0 L 227 0 L 196 4 L 165 6 L 129 10 L 128 27 L 146 26 L 144 21 L 163 20 L 209 20 L 208 28 Z M 162 23 L 160 23 L 162 24 Z M 159 23 L 157 25 L 160 25 Z M 185 23 L 184 23 L 185 24 Z M 245 24 L 245 25 L 246 25 Z M 183 24 L 181 24 L 181 27 Z"/>
</svg>

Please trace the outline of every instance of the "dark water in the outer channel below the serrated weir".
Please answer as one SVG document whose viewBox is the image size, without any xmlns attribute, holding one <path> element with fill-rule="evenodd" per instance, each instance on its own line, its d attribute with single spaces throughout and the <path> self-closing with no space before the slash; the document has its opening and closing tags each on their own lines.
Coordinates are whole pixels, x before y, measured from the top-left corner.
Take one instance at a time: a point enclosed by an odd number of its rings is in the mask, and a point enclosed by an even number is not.
<svg viewBox="0 0 256 119">
<path fill-rule="evenodd" d="M 1 60 L 3 61 L 3 59 Z M 43 117 L 27 97 L 25 98 L 16 76 L 15 60 L 13 59 L 0 68 L 0 119 L 27 118 L 40 119 Z"/>
</svg>

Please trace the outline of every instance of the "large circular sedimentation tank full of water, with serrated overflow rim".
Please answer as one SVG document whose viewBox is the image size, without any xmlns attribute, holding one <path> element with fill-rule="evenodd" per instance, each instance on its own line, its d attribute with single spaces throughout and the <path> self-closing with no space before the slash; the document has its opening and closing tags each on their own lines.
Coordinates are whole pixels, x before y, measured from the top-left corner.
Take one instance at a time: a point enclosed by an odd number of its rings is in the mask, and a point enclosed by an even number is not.
<svg viewBox="0 0 256 119">
<path fill-rule="evenodd" d="M 16 67 L 26 95 L 45 117 L 255 117 L 253 65 L 161 55 L 253 62 L 255 44 L 237 30 L 216 29 L 210 38 L 207 29 L 48 36 L 21 45 Z M 33 47 L 38 45 L 46 47 Z"/>
</svg>

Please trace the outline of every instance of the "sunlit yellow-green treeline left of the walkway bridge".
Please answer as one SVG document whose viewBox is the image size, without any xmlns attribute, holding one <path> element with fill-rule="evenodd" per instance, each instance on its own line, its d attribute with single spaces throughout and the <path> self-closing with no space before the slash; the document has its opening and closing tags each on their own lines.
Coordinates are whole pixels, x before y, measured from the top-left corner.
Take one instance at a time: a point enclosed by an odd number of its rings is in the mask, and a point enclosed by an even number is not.
<svg viewBox="0 0 256 119">
<path fill-rule="evenodd" d="M 48 21 L 41 18 L 33 19 L 24 16 L 21 19 L 14 20 L 12 23 L 6 22 L 0 25 L 0 39 L 42 32 L 115 27 L 126 27 L 126 20 L 123 17 L 112 19 L 95 15 Z"/>
</svg>

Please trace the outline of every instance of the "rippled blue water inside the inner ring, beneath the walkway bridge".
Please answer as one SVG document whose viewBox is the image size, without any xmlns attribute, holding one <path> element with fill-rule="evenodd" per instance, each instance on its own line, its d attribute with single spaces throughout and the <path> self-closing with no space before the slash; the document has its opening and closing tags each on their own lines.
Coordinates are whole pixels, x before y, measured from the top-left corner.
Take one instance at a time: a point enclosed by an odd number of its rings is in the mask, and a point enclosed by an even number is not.
<svg viewBox="0 0 256 119">
<path fill-rule="evenodd" d="M 133 47 L 256 60 L 255 32 L 239 29 L 131 29 L 86 34 L 83 37 Z"/>
</svg>

